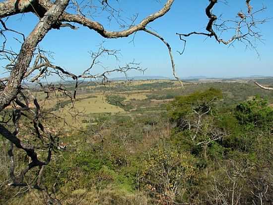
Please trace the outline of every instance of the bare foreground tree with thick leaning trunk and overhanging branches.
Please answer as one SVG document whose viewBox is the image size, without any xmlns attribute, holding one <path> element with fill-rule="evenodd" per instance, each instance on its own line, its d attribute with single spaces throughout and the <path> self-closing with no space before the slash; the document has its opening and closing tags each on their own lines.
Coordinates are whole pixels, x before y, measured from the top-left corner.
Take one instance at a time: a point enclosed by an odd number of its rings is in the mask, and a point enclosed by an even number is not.
<svg viewBox="0 0 273 205">
<path fill-rule="evenodd" d="M 98 52 L 92 53 L 93 61 L 90 67 L 82 74 L 75 75 L 71 73 L 71 71 L 66 71 L 60 66 L 53 65 L 47 57 L 48 53 L 39 48 L 39 43 L 44 39 L 47 33 L 51 29 L 59 29 L 61 32 L 62 27 L 77 29 L 77 27 L 71 23 L 76 23 L 86 26 L 90 30 L 95 30 L 98 35 L 101 35 L 104 38 L 122 38 L 135 34 L 137 31 L 144 31 L 157 37 L 167 46 L 173 74 L 174 77 L 178 79 L 175 74 L 175 64 L 170 45 L 159 34 L 147 29 L 150 22 L 157 20 L 169 12 L 173 3 L 174 0 L 166 0 L 166 3 L 159 11 L 143 18 L 138 24 L 134 24 L 136 19 L 133 19 L 132 24 L 123 25 L 123 27 L 127 27 L 124 30 L 108 31 L 102 24 L 91 20 L 87 16 L 93 6 L 99 6 L 101 10 L 108 12 L 110 17 L 113 17 L 113 15 L 115 15 L 115 17 L 119 16 L 119 10 L 111 6 L 111 1 L 109 0 L 98 0 L 97 4 L 94 4 L 93 1 L 83 1 L 83 3 L 80 3 L 77 0 L 56 0 L 54 2 L 50 0 L 4 0 L 0 2 L 0 35 L 3 39 L 0 55 L 6 63 L 4 69 L 8 73 L 7 77 L 0 79 L 0 134 L 10 142 L 10 148 L 8 150 L 8 155 L 10 157 L 9 175 L 12 181 L 10 185 L 15 187 L 30 186 L 32 188 L 44 190 L 40 186 L 44 166 L 50 162 L 52 151 L 58 149 L 59 146 L 58 133 L 56 133 L 56 130 L 52 132 L 52 129 L 49 128 L 49 125 L 51 124 L 49 114 L 51 114 L 51 119 L 57 118 L 58 116 L 54 116 L 53 113 L 45 112 L 38 100 L 32 95 L 32 90 L 26 88 L 26 84 L 23 84 L 23 82 L 38 83 L 41 87 L 40 91 L 47 94 L 47 97 L 51 93 L 58 92 L 68 96 L 71 101 L 74 102 L 79 80 L 81 79 L 101 79 L 106 81 L 107 75 L 113 72 L 126 73 L 131 69 L 142 70 L 133 62 L 117 69 L 107 70 L 103 73 L 92 75 L 90 70 L 94 65 L 99 63 L 98 59 L 100 56 L 116 56 L 118 53 L 117 50 L 109 50 L 100 47 Z M 232 44 L 236 40 L 244 41 L 252 48 L 256 49 L 252 40 L 260 38 L 261 36 L 260 33 L 256 31 L 256 26 L 264 23 L 266 20 L 255 20 L 254 15 L 265 8 L 253 11 L 250 0 L 246 0 L 246 13 L 240 11 L 234 21 L 226 20 L 220 24 L 216 24 L 217 17 L 212 14 L 211 11 L 215 3 L 217 3 L 217 0 L 209 0 L 209 5 L 205 8 L 205 13 L 209 18 L 206 26 L 208 33 L 177 33 L 180 39 L 185 42 L 185 45 L 186 40 L 184 37 L 192 34 L 199 34 L 214 37 L 218 43 L 223 44 Z M 39 22 L 27 37 L 6 26 L 8 17 L 18 13 L 33 13 L 39 17 Z M 230 25 L 230 23 L 232 25 Z M 219 38 L 217 32 L 233 32 L 234 28 L 235 33 L 232 34 L 232 37 L 229 40 Z M 9 40 L 8 33 L 10 32 L 20 36 L 20 40 L 18 40 L 18 43 L 21 46 L 19 53 L 6 47 L 6 42 Z M 181 54 L 183 52 L 181 52 Z M 75 87 L 73 91 L 70 92 L 64 85 L 44 85 L 40 82 L 41 79 L 52 74 L 58 75 L 60 78 L 68 77 L 74 80 Z M 27 126 L 23 126 L 24 122 Z M 28 137 L 24 138 L 26 135 Z M 25 152 L 30 158 L 30 163 L 20 171 L 18 176 L 16 176 L 16 172 L 14 171 L 16 167 L 13 159 L 14 146 L 18 150 Z M 38 157 L 38 154 L 39 152 L 44 153 L 45 150 L 47 150 L 47 154 L 44 156 L 45 159 L 41 160 L 40 157 Z M 26 174 L 35 167 L 39 167 L 38 176 L 32 179 L 31 182 L 26 182 Z"/>
</svg>

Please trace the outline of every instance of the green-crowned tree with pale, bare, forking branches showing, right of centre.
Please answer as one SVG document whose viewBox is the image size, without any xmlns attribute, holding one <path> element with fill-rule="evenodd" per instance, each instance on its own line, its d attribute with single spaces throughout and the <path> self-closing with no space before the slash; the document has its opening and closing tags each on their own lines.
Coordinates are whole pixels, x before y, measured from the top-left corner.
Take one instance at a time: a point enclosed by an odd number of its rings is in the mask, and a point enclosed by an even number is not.
<svg viewBox="0 0 273 205">
<path fill-rule="evenodd" d="M 209 145 L 225 135 L 214 125 L 215 103 L 221 98 L 221 90 L 210 88 L 189 96 L 178 96 L 169 106 L 171 120 L 176 123 L 174 138 L 183 138 L 179 143 L 196 155 L 202 151 L 206 161 Z"/>
</svg>

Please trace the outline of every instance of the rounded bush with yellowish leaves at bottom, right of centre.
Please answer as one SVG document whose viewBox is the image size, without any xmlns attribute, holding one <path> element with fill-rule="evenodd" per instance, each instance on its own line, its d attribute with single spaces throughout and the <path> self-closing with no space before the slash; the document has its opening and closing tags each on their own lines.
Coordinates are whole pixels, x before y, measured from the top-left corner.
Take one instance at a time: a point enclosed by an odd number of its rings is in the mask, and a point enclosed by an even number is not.
<svg viewBox="0 0 273 205">
<path fill-rule="evenodd" d="M 196 161 L 187 152 L 166 142 L 152 148 L 142 162 L 142 186 L 154 195 L 183 202 L 196 176 Z M 159 198 L 158 204 L 164 203 Z M 169 200 L 169 199 L 168 199 Z"/>
</svg>

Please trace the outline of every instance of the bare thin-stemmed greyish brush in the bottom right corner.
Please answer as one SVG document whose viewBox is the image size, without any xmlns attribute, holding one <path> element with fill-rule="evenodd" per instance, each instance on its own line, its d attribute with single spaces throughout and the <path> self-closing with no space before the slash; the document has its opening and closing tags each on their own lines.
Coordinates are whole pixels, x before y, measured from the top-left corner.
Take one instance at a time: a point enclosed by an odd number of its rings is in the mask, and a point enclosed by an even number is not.
<svg viewBox="0 0 273 205">
<path fill-rule="evenodd" d="M 257 160 L 224 160 L 206 190 L 209 204 L 272 204 L 272 150 L 257 150 Z M 262 154 L 263 153 L 263 154 Z M 267 153 L 266 155 L 264 155 Z"/>
</svg>

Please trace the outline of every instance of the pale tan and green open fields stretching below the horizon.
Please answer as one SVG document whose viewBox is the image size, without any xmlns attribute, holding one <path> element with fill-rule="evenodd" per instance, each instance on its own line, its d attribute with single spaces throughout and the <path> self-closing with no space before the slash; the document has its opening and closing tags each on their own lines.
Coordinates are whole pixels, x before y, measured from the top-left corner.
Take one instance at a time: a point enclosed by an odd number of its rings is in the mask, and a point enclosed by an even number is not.
<svg viewBox="0 0 273 205">
<path fill-rule="evenodd" d="M 260 83 L 265 82 L 267 85 L 273 83 L 273 79 L 272 81 L 270 79 L 258 79 L 258 81 Z M 217 82 L 200 80 L 200 82 L 202 83 L 197 83 L 195 80 L 187 82 L 184 89 L 179 86 L 178 82 L 172 80 L 118 81 L 112 82 L 109 87 L 108 85 L 106 87 L 94 86 L 92 89 L 87 85 L 86 88 L 81 88 L 81 91 L 84 90 L 84 92 L 79 91 L 74 108 L 71 108 L 72 103 L 69 102 L 69 99 L 60 97 L 60 95 L 56 98 L 51 95 L 51 100 L 44 101 L 45 103 L 41 105 L 46 109 L 55 107 L 55 112 L 66 118 L 67 122 L 73 124 L 73 126 L 86 126 L 87 121 L 90 122 L 90 118 L 95 119 L 100 114 L 105 115 L 103 113 L 132 115 L 145 111 L 162 111 L 165 110 L 164 104 L 173 101 L 175 96 L 188 95 L 197 90 L 203 91 L 210 87 L 221 89 L 227 103 L 251 100 L 256 95 L 273 102 L 272 92 L 261 90 L 254 85 L 253 81 L 239 79 L 232 81 L 219 80 Z M 123 85 L 123 87 L 120 87 L 120 85 Z M 124 87 L 124 85 L 127 87 Z M 37 95 L 39 98 L 45 97 L 41 93 L 37 93 Z M 111 96 L 115 96 L 118 100 L 112 103 L 108 102 L 108 98 Z M 62 104 L 62 102 L 66 103 Z M 59 106 L 60 103 L 61 107 Z M 73 117 L 76 112 L 81 113 L 77 119 Z"/>
</svg>

